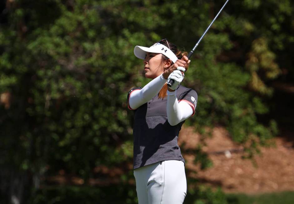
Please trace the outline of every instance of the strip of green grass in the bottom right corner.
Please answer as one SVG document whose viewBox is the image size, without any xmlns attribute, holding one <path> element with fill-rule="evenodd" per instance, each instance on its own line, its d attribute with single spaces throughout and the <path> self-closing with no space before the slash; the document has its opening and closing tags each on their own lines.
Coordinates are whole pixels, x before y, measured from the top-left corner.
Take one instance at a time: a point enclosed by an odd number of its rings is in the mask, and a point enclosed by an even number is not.
<svg viewBox="0 0 294 204">
<path fill-rule="evenodd" d="M 294 192 L 264 193 L 260 195 L 227 194 L 229 204 L 293 204 Z"/>
</svg>

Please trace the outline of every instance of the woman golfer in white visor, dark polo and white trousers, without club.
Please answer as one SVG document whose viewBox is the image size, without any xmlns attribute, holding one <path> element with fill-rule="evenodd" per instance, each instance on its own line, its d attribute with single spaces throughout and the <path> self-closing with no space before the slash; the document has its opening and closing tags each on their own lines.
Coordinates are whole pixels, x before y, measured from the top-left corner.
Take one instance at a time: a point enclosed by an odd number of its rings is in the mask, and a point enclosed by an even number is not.
<svg viewBox="0 0 294 204">
<path fill-rule="evenodd" d="M 134 176 L 139 204 L 182 204 L 186 192 L 185 160 L 177 144 L 182 124 L 193 116 L 197 93 L 180 85 L 188 69 L 187 53 L 161 40 L 151 47 L 136 46 L 144 60 L 143 88 L 127 95 L 134 113 Z M 167 87 L 167 80 L 174 80 Z"/>
</svg>

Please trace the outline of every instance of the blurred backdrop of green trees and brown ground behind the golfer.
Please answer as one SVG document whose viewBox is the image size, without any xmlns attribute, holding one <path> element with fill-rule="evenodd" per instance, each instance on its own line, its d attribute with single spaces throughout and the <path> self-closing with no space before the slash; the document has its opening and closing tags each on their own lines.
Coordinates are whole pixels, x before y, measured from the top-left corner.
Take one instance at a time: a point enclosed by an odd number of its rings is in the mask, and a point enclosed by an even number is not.
<svg viewBox="0 0 294 204">
<path fill-rule="evenodd" d="M 133 48 L 189 52 L 225 1 L 0 2 L 0 203 L 137 203 Z M 229 1 L 203 38 L 184 203 L 293 203 L 293 45 L 291 0 Z"/>
</svg>

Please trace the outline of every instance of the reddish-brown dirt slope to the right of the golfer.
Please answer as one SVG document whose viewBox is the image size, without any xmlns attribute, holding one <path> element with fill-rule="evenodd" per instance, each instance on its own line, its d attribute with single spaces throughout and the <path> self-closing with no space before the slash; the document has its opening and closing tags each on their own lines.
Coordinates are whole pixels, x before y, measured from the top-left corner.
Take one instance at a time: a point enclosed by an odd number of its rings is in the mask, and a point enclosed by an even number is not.
<svg viewBox="0 0 294 204">
<path fill-rule="evenodd" d="M 213 162 L 213 167 L 200 170 L 193 165 L 194 155 L 185 155 L 186 168 L 196 170 L 196 177 L 211 187 L 221 186 L 227 193 L 256 194 L 264 192 L 294 191 L 294 142 L 292 137 L 273 139 L 276 147 L 262 147 L 262 154 L 255 157 L 257 167 L 250 160 L 242 159 L 242 147 L 228 137 L 222 127 L 213 130 L 213 137 L 207 138 L 203 148 Z M 196 147 L 200 135 L 192 127 L 183 127 L 179 145 Z"/>
</svg>

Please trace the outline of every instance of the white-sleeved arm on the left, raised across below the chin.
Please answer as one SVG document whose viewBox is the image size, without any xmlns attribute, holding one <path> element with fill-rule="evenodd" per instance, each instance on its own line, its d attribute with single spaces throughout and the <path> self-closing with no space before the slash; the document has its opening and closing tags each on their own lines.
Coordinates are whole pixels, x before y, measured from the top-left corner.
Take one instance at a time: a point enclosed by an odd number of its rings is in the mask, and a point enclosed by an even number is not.
<svg viewBox="0 0 294 204">
<path fill-rule="evenodd" d="M 128 102 L 131 109 L 137 109 L 150 101 L 161 90 L 167 79 L 162 74 L 146 84 L 142 89 L 134 89 L 129 92 Z"/>
</svg>

